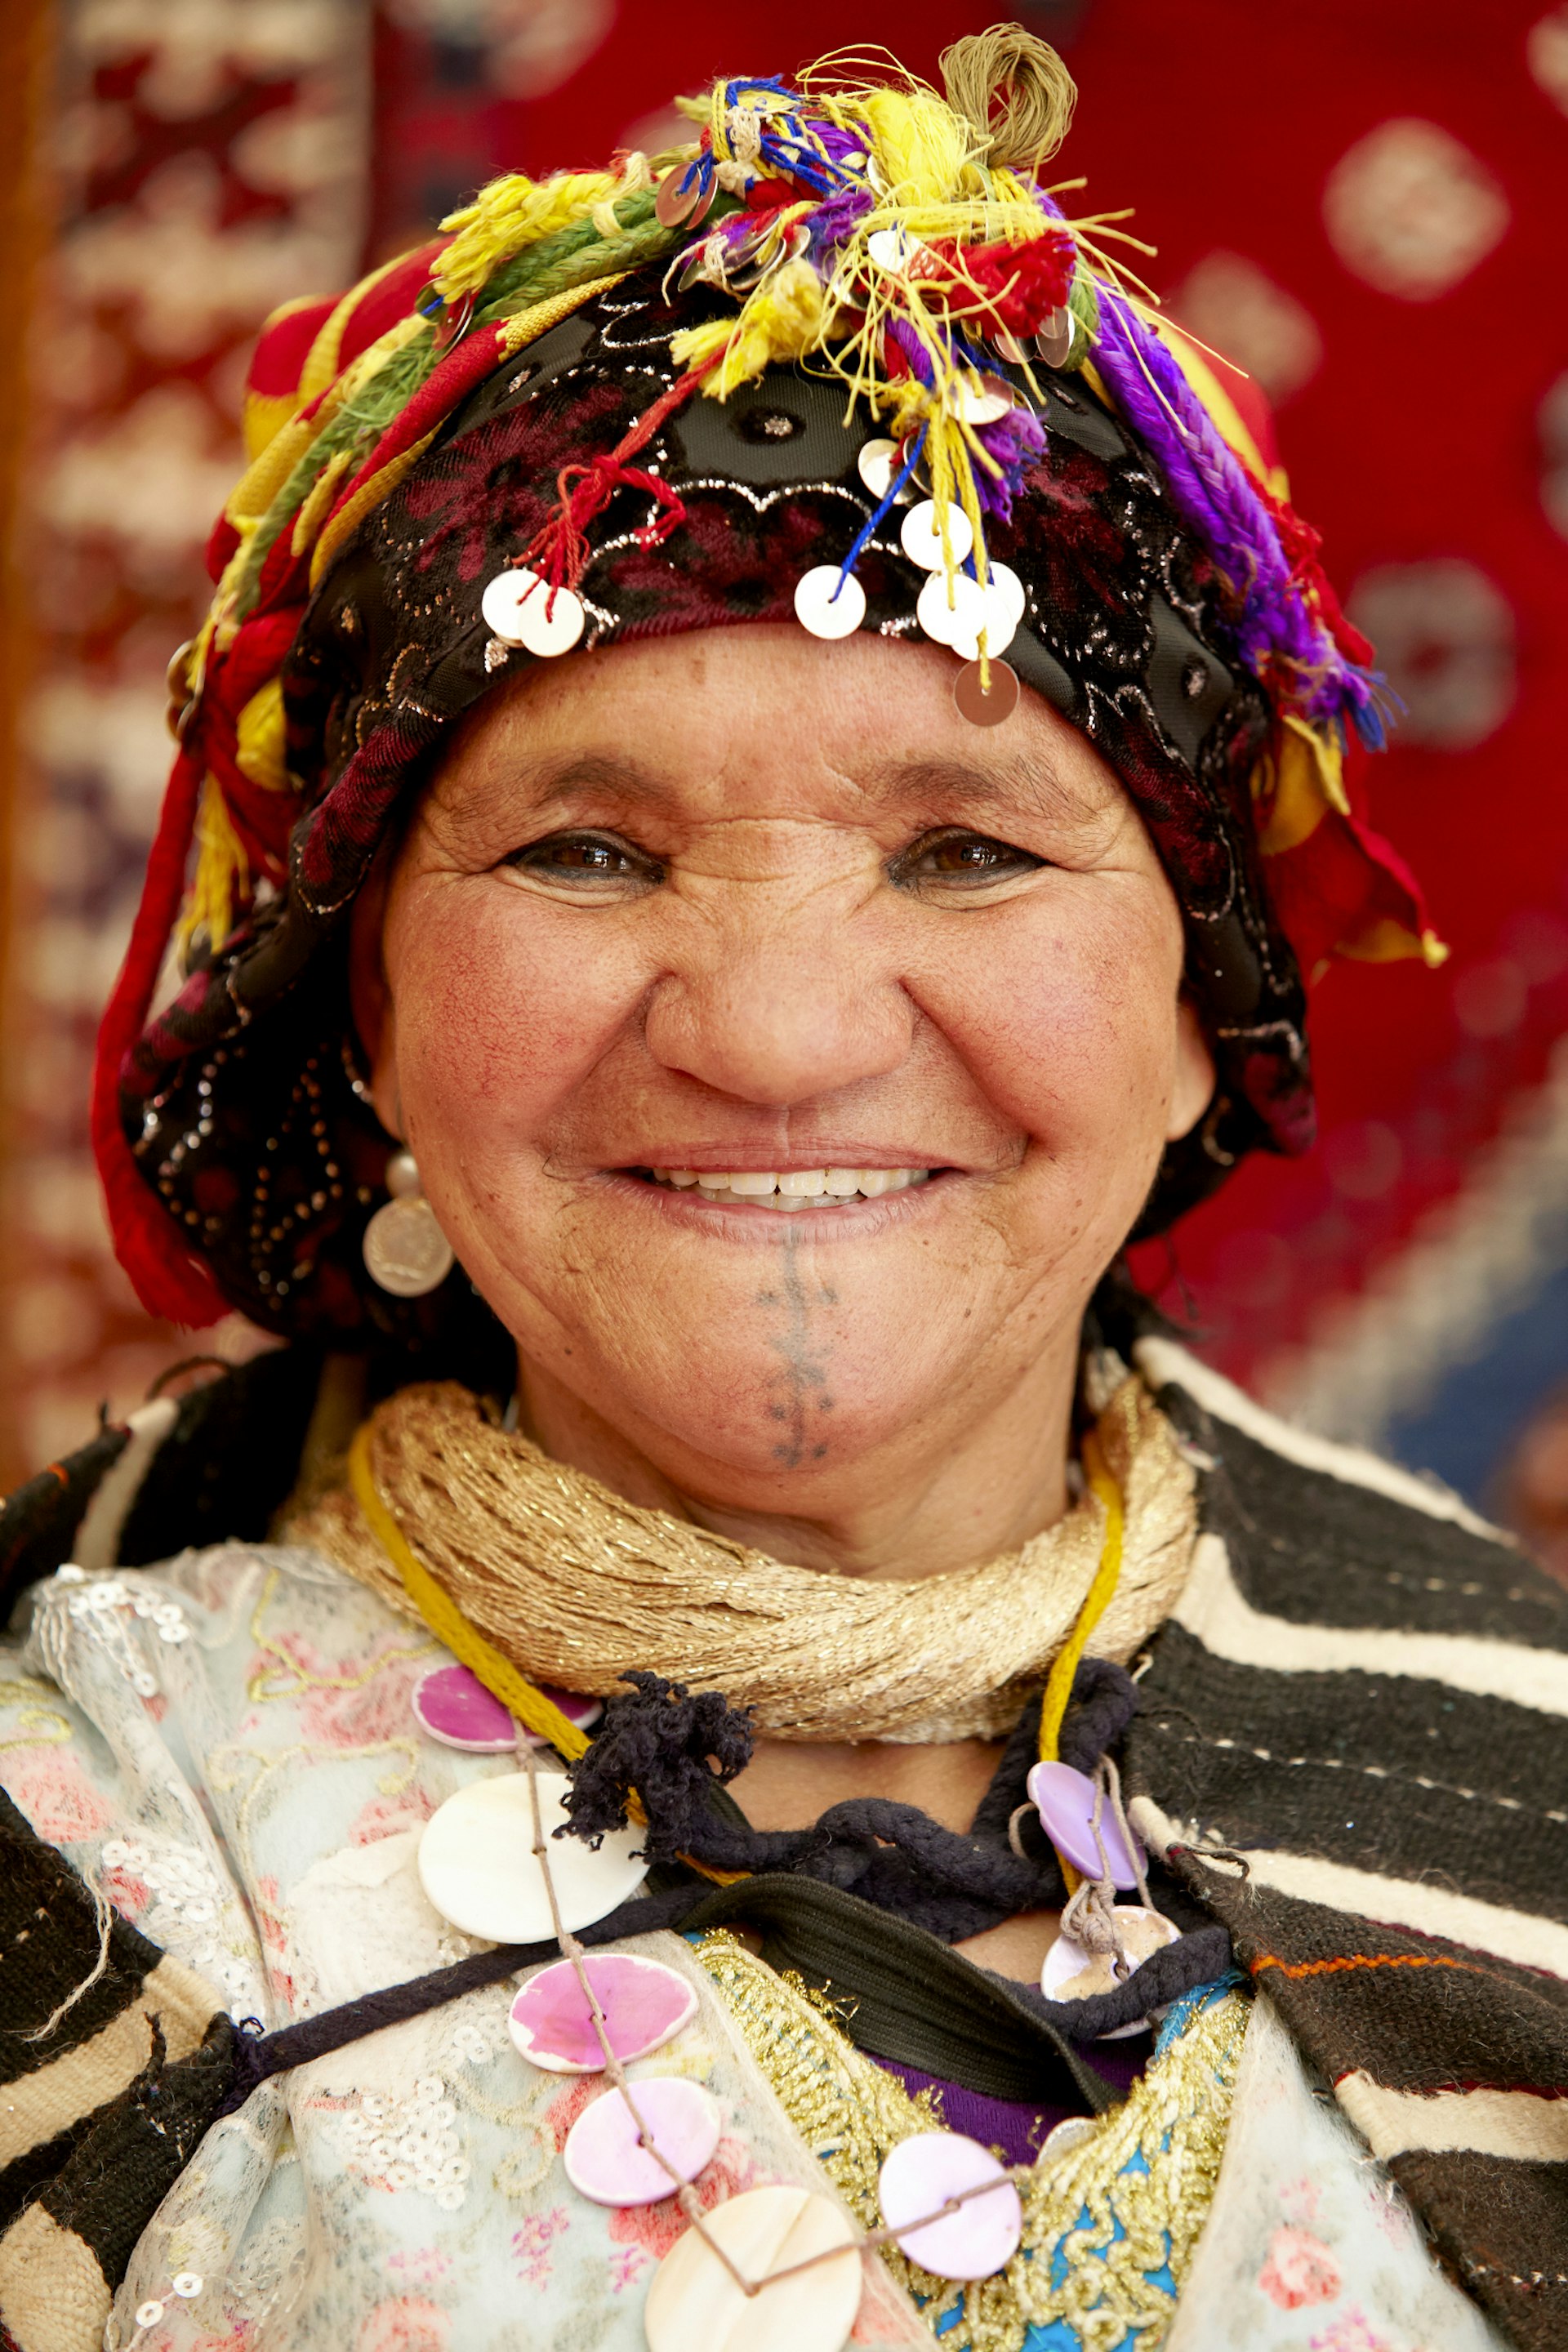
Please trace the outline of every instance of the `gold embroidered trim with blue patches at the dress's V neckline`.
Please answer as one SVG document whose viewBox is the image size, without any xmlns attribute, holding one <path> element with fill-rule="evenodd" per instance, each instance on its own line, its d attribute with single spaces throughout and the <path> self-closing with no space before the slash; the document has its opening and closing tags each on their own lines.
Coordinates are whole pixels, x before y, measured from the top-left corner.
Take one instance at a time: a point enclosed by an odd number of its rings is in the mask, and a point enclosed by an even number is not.
<svg viewBox="0 0 1568 2352">
<path fill-rule="evenodd" d="M 912 2098 L 858 2051 L 806 1985 L 755 1959 L 726 1929 L 696 1957 L 741 2027 L 790 2122 L 865 2230 L 882 2220 L 877 2176 L 898 2140 L 940 2131 L 938 2096 Z M 1159 2352 L 1225 2152 L 1248 1999 L 1225 1992 L 1157 2056 L 1131 2096 L 1058 2157 L 1041 2157 L 1023 2190 L 1023 2244 L 994 2279 L 933 2279 L 896 2246 L 882 2251 L 926 2326 L 961 2310 L 943 2352 L 1023 2352 L 1032 2326 L 1067 2321 L 1084 2352 Z M 1143 2157 L 1147 2171 L 1128 2171 Z M 1121 2234 L 1117 2234 L 1117 2230 Z M 1060 2284 L 1051 2284 L 1065 2260 Z"/>
</svg>

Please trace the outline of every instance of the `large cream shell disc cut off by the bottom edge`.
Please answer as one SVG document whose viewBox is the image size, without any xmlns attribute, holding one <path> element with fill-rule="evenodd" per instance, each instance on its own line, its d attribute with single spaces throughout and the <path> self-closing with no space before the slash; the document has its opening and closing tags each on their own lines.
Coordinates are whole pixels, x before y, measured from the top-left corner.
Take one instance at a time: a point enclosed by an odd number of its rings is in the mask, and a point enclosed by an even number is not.
<svg viewBox="0 0 1568 2352">
<path fill-rule="evenodd" d="M 703 2230 L 757 2293 L 743 2293 L 686 2230 L 642 2307 L 649 2352 L 844 2352 L 860 2310 L 860 2249 L 837 2204 L 797 2187 L 743 2190 L 703 2213 Z M 809 2256 L 827 2260 L 778 2277 Z"/>
</svg>

